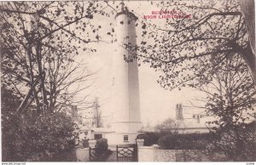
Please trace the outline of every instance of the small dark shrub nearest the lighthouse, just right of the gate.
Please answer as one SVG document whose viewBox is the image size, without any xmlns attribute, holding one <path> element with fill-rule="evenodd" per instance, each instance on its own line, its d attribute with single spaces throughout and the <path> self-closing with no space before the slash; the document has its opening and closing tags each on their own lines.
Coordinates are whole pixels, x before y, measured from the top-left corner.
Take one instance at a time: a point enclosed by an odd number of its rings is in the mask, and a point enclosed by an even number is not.
<svg viewBox="0 0 256 165">
<path fill-rule="evenodd" d="M 157 144 L 157 140 L 159 139 L 159 137 L 160 137 L 159 133 L 153 133 L 153 132 L 137 135 L 137 139 L 144 139 L 145 146 L 151 146 L 151 145 Z"/>
</svg>

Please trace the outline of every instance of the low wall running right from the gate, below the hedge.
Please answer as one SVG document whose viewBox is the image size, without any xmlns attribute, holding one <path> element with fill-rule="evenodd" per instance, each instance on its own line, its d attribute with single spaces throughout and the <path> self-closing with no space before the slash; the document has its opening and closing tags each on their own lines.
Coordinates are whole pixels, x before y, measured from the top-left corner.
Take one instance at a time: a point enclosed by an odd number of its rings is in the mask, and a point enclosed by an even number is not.
<svg viewBox="0 0 256 165">
<path fill-rule="evenodd" d="M 138 147 L 139 162 L 225 162 L 224 153 L 208 154 L 200 150 L 160 150 L 158 148 Z"/>
</svg>

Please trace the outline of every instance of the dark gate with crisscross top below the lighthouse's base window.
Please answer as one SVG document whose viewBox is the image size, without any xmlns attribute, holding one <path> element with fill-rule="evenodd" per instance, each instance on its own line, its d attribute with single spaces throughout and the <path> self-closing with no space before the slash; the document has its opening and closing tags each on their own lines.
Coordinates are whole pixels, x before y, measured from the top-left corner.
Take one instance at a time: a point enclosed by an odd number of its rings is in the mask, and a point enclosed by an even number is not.
<svg viewBox="0 0 256 165">
<path fill-rule="evenodd" d="M 116 145 L 117 162 L 137 162 L 137 145 Z"/>
</svg>

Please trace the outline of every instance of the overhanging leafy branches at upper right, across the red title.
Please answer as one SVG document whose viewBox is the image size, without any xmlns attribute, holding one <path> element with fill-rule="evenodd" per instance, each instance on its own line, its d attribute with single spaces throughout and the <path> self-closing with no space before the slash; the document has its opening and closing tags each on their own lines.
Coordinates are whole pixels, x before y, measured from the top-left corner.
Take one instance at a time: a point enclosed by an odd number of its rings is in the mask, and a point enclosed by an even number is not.
<svg viewBox="0 0 256 165">
<path fill-rule="evenodd" d="M 218 66 L 234 53 L 240 54 L 253 71 L 255 56 L 236 1 L 163 1 L 158 6 L 191 14 L 191 19 L 166 19 L 163 25 L 142 20 L 143 42 L 125 47 L 136 49 L 141 63 L 163 73 L 158 82 L 163 88 L 199 86 L 196 77 L 212 70 L 211 58 L 218 57 Z"/>
</svg>

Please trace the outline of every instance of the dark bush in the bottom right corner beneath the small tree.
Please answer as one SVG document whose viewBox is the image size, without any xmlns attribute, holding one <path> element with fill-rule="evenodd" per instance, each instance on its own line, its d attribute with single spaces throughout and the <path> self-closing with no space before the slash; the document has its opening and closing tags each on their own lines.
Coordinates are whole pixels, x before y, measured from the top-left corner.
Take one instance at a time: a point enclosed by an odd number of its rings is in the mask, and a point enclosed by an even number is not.
<svg viewBox="0 0 256 165">
<path fill-rule="evenodd" d="M 233 161 L 256 161 L 256 122 L 219 128 L 208 151 L 223 151 Z"/>
</svg>

